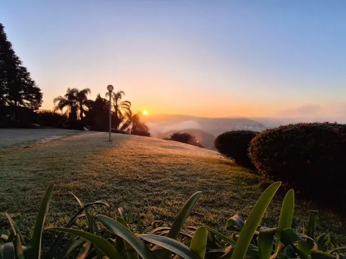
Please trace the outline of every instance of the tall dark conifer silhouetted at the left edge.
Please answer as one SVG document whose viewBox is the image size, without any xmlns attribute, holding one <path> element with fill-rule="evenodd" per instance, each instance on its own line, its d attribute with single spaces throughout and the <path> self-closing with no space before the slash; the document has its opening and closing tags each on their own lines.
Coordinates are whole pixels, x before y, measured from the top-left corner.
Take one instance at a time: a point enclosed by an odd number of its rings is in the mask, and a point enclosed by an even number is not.
<svg viewBox="0 0 346 259">
<path fill-rule="evenodd" d="M 6 107 L 25 107 L 35 111 L 41 104 L 41 89 L 15 54 L 0 23 L 0 118 L 5 115 Z"/>
</svg>

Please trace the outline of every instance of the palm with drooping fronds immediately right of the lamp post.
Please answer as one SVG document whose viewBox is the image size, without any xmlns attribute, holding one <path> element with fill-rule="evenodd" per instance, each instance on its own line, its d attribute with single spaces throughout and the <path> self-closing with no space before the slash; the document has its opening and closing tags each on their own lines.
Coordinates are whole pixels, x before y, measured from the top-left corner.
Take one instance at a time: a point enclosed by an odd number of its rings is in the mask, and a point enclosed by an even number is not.
<svg viewBox="0 0 346 259">
<path fill-rule="evenodd" d="M 128 124 L 128 121 L 131 121 L 132 112 L 131 112 L 131 102 L 129 101 L 121 101 L 122 97 L 125 95 L 125 92 L 119 90 L 117 92 L 112 92 L 111 97 L 113 100 L 113 116 L 115 120 L 114 128 L 119 129 L 119 126 L 122 125 L 121 128 L 124 128 Z M 109 97 L 109 92 L 106 93 L 106 97 Z"/>
</svg>

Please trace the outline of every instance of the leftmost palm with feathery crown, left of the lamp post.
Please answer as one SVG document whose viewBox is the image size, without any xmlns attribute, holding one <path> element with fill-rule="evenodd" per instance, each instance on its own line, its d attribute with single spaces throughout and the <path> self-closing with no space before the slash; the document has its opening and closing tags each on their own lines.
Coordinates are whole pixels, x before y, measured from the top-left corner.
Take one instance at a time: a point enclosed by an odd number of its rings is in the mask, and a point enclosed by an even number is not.
<svg viewBox="0 0 346 259">
<path fill-rule="evenodd" d="M 77 88 L 67 88 L 64 96 L 58 96 L 53 99 L 54 111 L 63 111 L 69 115 L 70 121 L 77 121 L 78 116 L 82 120 L 87 105 L 87 94 L 91 93 L 89 88 L 78 90 Z"/>
</svg>

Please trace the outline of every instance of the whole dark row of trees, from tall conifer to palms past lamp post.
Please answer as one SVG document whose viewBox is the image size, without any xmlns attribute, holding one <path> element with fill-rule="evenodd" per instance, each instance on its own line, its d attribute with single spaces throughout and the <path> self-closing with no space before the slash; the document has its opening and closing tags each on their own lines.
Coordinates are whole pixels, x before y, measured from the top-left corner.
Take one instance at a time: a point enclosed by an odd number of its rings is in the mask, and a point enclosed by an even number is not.
<svg viewBox="0 0 346 259">
<path fill-rule="evenodd" d="M 54 98 L 54 110 L 39 110 L 43 94 L 30 72 L 15 54 L 0 23 L 0 128 L 50 126 L 69 129 L 108 131 L 109 101 L 100 94 L 89 100 L 89 88 L 68 88 Z M 112 92 L 113 131 L 150 135 L 140 114 L 133 113 L 131 102 L 123 101 L 124 91 Z M 109 97 L 109 93 L 106 93 Z M 59 112 L 58 112 L 59 111 Z"/>
</svg>

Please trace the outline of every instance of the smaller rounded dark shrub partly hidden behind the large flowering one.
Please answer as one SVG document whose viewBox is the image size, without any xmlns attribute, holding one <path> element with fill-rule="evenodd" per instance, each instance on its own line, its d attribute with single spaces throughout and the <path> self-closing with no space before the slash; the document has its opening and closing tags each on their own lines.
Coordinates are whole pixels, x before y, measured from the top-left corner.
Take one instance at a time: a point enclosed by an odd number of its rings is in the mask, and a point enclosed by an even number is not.
<svg viewBox="0 0 346 259">
<path fill-rule="evenodd" d="M 226 158 L 234 160 L 237 164 L 245 167 L 253 167 L 249 157 L 250 141 L 258 134 L 250 130 L 227 131 L 218 135 L 214 145 Z"/>
</svg>

